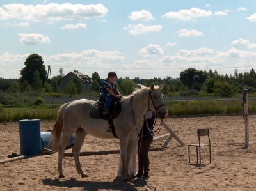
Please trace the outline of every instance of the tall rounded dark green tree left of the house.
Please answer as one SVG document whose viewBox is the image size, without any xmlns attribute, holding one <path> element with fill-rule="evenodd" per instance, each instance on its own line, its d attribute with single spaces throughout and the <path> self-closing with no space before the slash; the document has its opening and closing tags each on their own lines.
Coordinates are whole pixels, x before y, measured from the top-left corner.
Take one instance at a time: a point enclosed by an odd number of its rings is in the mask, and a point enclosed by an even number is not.
<svg viewBox="0 0 256 191">
<path fill-rule="evenodd" d="M 38 54 L 30 54 L 24 62 L 24 65 L 26 66 L 20 71 L 20 84 L 22 84 L 26 80 L 28 84 L 32 85 L 34 77 L 33 73 L 35 73 L 36 70 L 39 72 L 39 77 L 42 80 L 42 85 L 46 82 L 47 71 L 45 70 L 42 56 Z"/>
</svg>

